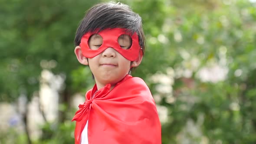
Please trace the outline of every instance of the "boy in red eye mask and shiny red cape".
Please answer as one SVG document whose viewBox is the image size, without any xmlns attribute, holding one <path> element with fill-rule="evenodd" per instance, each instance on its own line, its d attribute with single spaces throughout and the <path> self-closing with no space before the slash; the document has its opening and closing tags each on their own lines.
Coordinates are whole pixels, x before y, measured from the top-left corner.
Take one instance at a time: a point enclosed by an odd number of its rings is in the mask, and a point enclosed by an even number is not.
<svg viewBox="0 0 256 144">
<path fill-rule="evenodd" d="M 145 44 L 141 17 L 122 3 L 101 3 L 85 14 L 75 55 L 89 65 L 95 86 L 75 113 L 75 144 L 161 144 L 161 124 L 145 82 L 129 75 Z"/>
</svg>

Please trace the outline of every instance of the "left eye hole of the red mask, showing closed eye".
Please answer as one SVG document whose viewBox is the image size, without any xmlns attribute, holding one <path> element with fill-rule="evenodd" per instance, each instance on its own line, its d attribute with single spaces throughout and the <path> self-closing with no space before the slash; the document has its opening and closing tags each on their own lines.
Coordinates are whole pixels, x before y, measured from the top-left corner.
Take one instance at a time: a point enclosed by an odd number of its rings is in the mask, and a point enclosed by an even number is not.
<svg viewBox="0 0 256 144">
<path fill-rule="evenodd" d="M 98 49 L 100 46 L 102 46 L 102 43 L 103 38 L 99 34 L 93 34 L 88 40 L 90 49 Z"/>
</svg>

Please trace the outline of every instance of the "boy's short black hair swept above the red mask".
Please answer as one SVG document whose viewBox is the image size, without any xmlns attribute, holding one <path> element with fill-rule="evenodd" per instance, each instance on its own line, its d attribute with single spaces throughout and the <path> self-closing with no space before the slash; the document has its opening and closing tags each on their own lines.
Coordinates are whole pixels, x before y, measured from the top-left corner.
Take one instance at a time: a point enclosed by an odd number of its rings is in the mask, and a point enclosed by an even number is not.
<svg viewBox="0 0 256 144">
<path fill-rule="evenodd" d="M 142 28 L 141 16 L 133 12 L 123 3 L 99 3 L 90 8 L 79 24 L 75 35 L 75 46 L 79 46 L 82 36 L 87 32 L 101 31 L 107 28 L 125 28 L 131 33 L 136 32 L 142 55 L 145 50 L 145 37 Z"/>
</svg>

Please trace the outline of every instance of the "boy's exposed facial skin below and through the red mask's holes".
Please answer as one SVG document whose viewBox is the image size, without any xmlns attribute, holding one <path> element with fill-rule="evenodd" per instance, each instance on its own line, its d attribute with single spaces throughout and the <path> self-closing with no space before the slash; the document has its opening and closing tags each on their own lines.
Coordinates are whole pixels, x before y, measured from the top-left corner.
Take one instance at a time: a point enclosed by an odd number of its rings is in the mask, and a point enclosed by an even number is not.
<svg viewBox="0 0 256 144">
<path fill-rule="evenodd" d="M 102 45 L 103 39 L 95 34 L 89 39 L 90 49 L 98 49 Z M 131 39 L 128 35 L 122 35 L 118 38 L 118 43 L 123 49 L 131 46 Z M 125 59 L 115 49 L 109 47 L 97 56 L 88 59 L 89 67 L 95 77 L 97 85 L 114 85 L 128 74 L 131 68 L 131 61 Z"/>
</svg>

